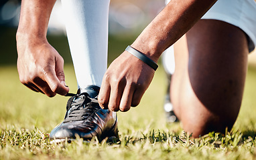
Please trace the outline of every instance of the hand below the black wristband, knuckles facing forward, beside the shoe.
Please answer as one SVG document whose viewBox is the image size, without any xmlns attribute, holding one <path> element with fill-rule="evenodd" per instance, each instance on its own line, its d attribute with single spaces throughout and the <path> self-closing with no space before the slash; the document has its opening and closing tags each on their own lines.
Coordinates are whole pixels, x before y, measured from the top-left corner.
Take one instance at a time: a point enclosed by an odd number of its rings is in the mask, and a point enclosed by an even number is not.
<svg viewBox="0 0 256 160">
<path fill-rule="evenodd" d="M 128 111 L 139 105 L 141 97 L 149 87 L 155 71 L 127 51 L 111 65 L 99 93 L 99 104 L 111 111 Z"/>
</svg>

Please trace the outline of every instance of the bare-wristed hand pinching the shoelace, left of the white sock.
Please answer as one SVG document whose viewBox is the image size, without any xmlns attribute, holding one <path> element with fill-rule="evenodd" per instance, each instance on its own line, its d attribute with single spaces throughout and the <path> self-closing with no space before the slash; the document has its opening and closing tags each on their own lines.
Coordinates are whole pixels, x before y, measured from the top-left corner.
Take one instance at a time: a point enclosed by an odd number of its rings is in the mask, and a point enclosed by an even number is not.
<svg viewBox="0 0 256 160">
<path fill-rule="evenodd" d="M 48 97 L 66 95 L 64 60 L 46 39 L 17 38 L 19 80 L 29 89 Z"/>
</svg>

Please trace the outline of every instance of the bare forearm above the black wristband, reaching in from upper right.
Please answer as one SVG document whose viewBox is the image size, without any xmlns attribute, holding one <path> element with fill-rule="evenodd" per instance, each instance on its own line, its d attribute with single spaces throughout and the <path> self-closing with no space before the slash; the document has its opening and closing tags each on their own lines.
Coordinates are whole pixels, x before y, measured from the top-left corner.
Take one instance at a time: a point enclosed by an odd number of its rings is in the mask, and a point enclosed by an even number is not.
<svg viewBox="0 0 256 160">
<path fill-rule="evenodd" d="M 157 62 L 212 7 L 216 0 L 172 0 L 131 45 Z"/>
</svg>

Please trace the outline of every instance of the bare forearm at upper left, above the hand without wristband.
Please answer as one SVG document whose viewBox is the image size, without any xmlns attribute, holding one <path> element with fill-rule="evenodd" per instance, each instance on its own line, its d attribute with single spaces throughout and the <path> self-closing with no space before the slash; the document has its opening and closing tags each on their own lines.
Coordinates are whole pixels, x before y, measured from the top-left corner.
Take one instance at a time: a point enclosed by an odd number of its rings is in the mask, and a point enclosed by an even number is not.
<svg viewBox="0 0 256 160">
<path fill-rule="evenodd" d="M 23 0 L 21 1 L 21 15 L 17 29 L 19 39 L 36 37 L 46 41 L 48 22 L 56 0 Z"/>
</svg>

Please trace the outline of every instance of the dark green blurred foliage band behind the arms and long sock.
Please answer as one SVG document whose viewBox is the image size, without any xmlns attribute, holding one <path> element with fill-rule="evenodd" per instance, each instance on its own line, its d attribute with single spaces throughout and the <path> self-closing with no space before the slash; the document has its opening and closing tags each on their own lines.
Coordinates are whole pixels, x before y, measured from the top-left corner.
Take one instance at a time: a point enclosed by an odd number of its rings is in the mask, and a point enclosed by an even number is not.
<svg viewBox="0 0 256 160">
<path fill-rule="evenodd" d="M 17 49 L 15 34 L 17 29 L 14 27 L 0 26 L 0 65 L 16 65 Z M 49 43 L 62 55 L 65 63 L 72 63 L 70 49 L 66 35 L 48 35 Z M 109 35 L 109 59 L 111 63 L 118 57 L 127 45 L 133 43 L 137 35 L 124 33 L 122 35 Z"/>
</svg>

